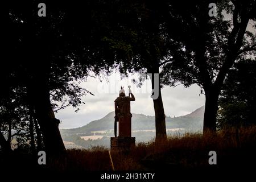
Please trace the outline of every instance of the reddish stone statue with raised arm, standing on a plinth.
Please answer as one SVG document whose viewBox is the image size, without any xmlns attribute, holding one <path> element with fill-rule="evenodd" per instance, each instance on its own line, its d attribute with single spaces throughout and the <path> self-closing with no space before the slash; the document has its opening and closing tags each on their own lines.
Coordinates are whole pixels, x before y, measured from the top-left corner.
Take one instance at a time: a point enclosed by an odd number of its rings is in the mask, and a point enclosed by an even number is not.
<svg viewBox="0 0 256 182">
<path fill-rule="evenodd" d="M 129 96 L 125 96 L 125 90 L 121 86 L 119 97 L 115 99 L 115 119 L 114 119 L 114 134 L 117 137 L 117 122 L 118 122 L 118 137 L 131 137 L 131 108 L 130 101 L 135 101 L 134 95 L 129 88 Z M 131 97 L 130 97 L 131 95 Z"/>
</svg>

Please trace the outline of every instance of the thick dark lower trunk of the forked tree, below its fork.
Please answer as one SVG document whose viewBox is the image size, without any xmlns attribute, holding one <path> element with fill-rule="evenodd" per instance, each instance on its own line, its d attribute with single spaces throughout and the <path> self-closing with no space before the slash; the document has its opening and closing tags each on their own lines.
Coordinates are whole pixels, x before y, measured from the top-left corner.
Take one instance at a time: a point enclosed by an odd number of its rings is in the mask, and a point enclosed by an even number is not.
<svg viewBox="0 0 256 182">
<path fill-rule="evenodd" d="M 204 133 L 216 131 L 218 95 L 219 93 L 214 89 L 205 91 Z"/>
</svg>

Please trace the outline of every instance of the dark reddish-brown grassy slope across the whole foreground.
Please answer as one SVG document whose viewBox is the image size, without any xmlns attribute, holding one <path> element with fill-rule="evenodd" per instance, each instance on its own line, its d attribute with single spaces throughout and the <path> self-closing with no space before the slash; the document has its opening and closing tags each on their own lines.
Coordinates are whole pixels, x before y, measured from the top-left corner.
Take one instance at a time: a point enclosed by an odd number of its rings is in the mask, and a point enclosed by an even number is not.
<svg viewBox="0 0 256 182">
<path fill-rule="evenodd" d="M 210 165 L 209 151 L 216 151 L 217 165 Z M 26 172 L 86 172 L 86 171 L 210 171 L 225 172 L 233 169 L 255 169 L 256 126 L 240 130 L 229 129 L 216 134 L 187 133 L 180 137 L 170 136 L 155 143 L 139 143 L 129 153 L 111 154 L 104 147 L 91 150 L 67 150 L 65 157 L 48 159 L 39 166 L 38 156 L 14 151 L 11 156 L 1 157 L 3 171 Z M 2 172 L 3 172 L 2 171 Z M 82 174 L 82 173 L 81 173 Z"/>
</svg>

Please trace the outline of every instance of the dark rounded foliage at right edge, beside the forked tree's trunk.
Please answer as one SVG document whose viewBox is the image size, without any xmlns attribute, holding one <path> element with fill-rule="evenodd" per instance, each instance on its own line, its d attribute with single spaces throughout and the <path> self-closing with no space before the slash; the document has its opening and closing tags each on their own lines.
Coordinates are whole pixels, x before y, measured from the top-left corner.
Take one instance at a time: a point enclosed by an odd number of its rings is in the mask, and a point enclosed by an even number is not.
<svg viewBox="0 0 256 182">
<path fill-rule="evenodd" d="M 256 62 L 240 60 L 224 81 L 219 98 L 218 128 L 255 125 Z"/>
</svg>

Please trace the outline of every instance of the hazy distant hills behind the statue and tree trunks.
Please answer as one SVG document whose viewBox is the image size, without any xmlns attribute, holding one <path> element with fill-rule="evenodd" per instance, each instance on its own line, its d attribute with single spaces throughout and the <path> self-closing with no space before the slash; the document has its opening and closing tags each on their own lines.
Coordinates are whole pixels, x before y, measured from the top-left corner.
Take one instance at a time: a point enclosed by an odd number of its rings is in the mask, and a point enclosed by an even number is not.
<svg viewBox="0 0 256 182">
<path fill-rule="evenodd" d="M 204 106 L 196 109 L 190 114 L 180 117 L 166 117 L 166 128 L 184 128 L 191 130 L 203 129 L 203 115 Z M 155 129 L 155 117 L 144 114 L 133 114 L 131 118 L 132 130 L 154 130 Z M 92 121 L 85 126 L 75 129 L 61 130 L 63 134 L 81 134 L 91 133 L 92 131 L 112 130 L 114 129 L 114 111 L 105 115 L 105 117 Z"/>
</svg>

